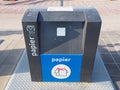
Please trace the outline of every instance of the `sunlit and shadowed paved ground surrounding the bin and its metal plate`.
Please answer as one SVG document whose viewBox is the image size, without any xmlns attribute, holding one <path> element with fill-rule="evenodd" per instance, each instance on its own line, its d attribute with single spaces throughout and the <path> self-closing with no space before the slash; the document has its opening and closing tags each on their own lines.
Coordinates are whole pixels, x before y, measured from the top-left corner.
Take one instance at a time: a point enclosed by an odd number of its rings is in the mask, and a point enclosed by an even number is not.
<svg viewBox="0 0 120 90">
<path fill-rule="evenodd" d="M 25 48 L 21 19 L 29 7 L 59 6 L 59 0 L 0 0 L 0 88 L 3 90 Z M 120 90 L 120 0 L 64 0 L 64 6 L 93 6 L 102 18 L 99 51 Z"/>
</svg>

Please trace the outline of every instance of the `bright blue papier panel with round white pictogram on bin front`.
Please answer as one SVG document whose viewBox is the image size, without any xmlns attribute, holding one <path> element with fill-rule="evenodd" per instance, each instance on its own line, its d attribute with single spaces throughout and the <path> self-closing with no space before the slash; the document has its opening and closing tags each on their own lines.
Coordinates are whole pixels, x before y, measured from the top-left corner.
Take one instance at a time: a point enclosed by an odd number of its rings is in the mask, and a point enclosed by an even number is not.
<svg viewBox="0 0 120 90">
<path fill-rule="evenodd" d="M 79 82 L 82 54 L 40 54 L 42 80 Z"/>
</svg>

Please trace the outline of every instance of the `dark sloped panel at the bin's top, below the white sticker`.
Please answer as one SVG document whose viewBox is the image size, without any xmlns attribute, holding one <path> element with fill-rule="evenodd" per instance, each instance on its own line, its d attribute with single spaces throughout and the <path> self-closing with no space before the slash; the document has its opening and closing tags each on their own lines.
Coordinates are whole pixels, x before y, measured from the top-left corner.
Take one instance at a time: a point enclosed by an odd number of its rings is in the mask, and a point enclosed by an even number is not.
<svg viewBox="0 0 120 90">
<path fill-rule="evenodd" d="M 46 22 L 84 22 L 82 11 L 47 11 L 39 13 L 39 21 Z"/>
</svg>

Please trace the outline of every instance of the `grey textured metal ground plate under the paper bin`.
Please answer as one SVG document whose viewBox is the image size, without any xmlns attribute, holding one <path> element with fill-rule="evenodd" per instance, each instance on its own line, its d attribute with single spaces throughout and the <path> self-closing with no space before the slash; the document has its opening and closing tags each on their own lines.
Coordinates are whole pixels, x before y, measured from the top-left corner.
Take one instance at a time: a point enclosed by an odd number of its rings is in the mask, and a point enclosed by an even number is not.
<svg viewBox="0 0 120 90">
<path fill-rule="evenodd" d="M 92 82 L 31 82 L 28 59 L 24 51 L 6 90 L 116 90 L 99 54 L 96 55 Z"/>
</svg>

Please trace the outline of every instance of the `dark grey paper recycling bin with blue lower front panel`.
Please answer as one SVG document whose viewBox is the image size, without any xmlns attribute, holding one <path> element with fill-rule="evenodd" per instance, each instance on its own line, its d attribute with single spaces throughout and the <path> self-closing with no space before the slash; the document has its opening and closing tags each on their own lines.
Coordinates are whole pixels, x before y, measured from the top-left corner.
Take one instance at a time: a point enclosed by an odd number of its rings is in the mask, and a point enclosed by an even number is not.
<svg viewBox="0 0 120 90">
<path fill-rule="evenodd" d="M 22 20 L 32 81 L 91 81 L 101 19 L 94 8 L 30 8 Z"/>
</svg>

